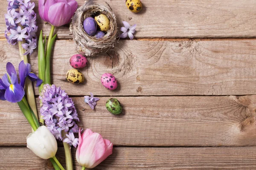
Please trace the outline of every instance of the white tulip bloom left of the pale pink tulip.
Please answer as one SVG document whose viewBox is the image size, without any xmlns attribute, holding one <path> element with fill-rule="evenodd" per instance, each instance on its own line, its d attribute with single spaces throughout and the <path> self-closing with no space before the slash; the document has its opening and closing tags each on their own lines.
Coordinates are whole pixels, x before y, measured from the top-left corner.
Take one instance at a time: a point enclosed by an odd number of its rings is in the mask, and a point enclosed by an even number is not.
<svg viewBox="0 0 256 170">
<path fill-rule="evenodd" d="M 26 138 L 27 147 L 42 159 L 55 156 L 58 146 L 55 137 L 46 126 L 38 127 Z"/>
</svg>

